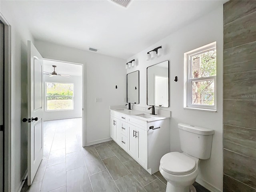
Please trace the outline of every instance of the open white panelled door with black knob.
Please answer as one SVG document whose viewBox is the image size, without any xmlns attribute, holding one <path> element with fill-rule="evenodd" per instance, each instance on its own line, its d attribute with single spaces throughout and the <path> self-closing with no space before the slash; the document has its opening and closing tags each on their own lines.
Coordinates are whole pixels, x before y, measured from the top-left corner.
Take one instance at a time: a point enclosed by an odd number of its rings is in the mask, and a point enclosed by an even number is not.
<svg viewBox="0 0 256 192">
<path fill-rule="evenodd" d="M 43 58 L 28 41 L 28 185 L 43 158 Z"/>
</svg>

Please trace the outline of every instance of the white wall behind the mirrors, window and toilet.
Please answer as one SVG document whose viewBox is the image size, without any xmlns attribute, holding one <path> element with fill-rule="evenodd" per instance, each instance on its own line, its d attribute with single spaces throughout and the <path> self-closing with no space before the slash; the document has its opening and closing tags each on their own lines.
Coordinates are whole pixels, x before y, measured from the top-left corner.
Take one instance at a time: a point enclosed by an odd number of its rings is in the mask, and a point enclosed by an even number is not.
<svg viewBox="0 0 256 192">
<path fill-rule="evenodd" d="M 170 23 L 171 24 L 171 23 Z M 146 68 L 165 60 L 170 61 L 170 121 L 171 151 L 181 151 L 179 144 L 178 123 L 188 123 L 215 130 L 212 153 L 208 160 L 200 162 L 197 181 L 206 186 L 207 182 L 222 191 L 222 52 L 223 52 L 223 6 L 202 16 L 190 25 L 170 34 L 156 44 L 127 59 L 136 59 L 138 66 L 128 69 L 127 73 L 140 70 L 140 104 L 146 106 Z M 184 90 L 184 53 L 206 44 L 217 42 L 217 112 L 206 112 L 183 108 Z M 146 53 L 158 46 L 163 46 L 164 55 L 146 61 Z M 174 82 L 178 76 L 178 82 Z"/>
</svg>

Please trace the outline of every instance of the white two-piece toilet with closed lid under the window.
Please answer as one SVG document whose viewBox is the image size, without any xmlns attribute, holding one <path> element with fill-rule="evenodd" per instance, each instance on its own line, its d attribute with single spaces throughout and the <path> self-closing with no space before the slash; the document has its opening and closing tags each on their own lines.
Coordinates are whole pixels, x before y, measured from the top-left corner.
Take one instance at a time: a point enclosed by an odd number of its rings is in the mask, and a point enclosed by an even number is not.
<svg viewBox="0 0 256 192">
<path fill-rule="evenodd" d="M 159 171 L 167 180 L 166 192 L 196 192 L 192 184 L 198 175 L 200 159 L 210 158 L 214 130 L 178 124 L 183 153 L 162 156 Z"/>
</svg>

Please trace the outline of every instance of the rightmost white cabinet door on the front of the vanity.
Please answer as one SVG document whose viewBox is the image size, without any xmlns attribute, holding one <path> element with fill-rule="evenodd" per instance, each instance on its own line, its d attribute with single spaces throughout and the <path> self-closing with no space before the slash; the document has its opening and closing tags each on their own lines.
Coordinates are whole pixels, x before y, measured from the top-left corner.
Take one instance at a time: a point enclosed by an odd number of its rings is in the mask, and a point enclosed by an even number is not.
<svg viewBox="0 0 256 192">
<path fill-rule="evenodd" d="M 147 132 L 141 128 L 136 127 L 136 145 L 137 154 L 136 159 L 144 167 L 146 166 L 147 160 Z"/>
</svg>

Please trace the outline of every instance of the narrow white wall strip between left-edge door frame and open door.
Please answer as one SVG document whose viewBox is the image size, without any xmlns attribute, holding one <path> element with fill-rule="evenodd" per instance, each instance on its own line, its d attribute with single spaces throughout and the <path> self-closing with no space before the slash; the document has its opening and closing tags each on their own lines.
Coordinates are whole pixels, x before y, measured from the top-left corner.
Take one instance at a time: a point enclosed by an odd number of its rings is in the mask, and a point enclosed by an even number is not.
<svg viewBox="0 0 256 192">
<path fill-rule="evenodd" d="M 27 40 L 28 29 L 15 20 L 8 1 L 1 1 L 0 12 L 11 25 L 11 189 L 16 192 L 27 170 Z M 22 116 L 21 116 L 22 114 Z M 27 117 L 26 117 L 27 118 Z"/>
</svg>

